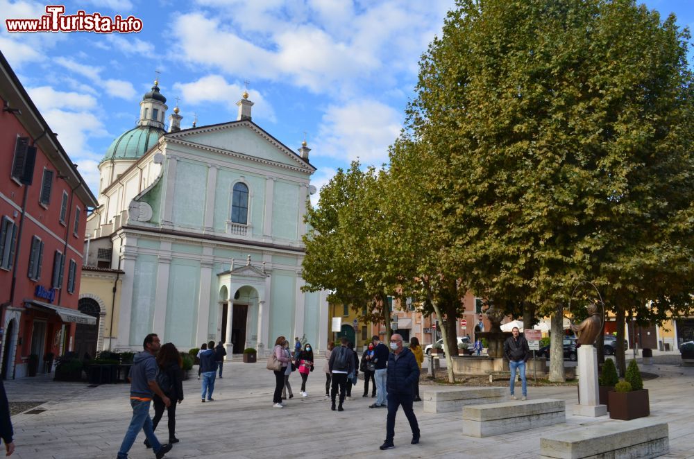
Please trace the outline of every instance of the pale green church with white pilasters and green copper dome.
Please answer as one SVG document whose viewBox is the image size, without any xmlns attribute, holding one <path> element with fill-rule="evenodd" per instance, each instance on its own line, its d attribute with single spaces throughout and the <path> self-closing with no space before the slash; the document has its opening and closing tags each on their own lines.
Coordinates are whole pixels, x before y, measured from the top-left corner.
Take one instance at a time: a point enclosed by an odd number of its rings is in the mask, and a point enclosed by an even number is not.
<svg viewBox="0 0 694 459">
<path fill-rule="evenodd" d="M 229 354 L 262 354 L 280 335 L 325 347 L 327 293 L 301 291 L 310 148 L 294 153 L 255 124 L 247 93 L 237 105 L 235 121 L 185 130 L 176 107 L 165 132 L 155 82 L 108 149 L 86 257 L 122 272 L 119 304 L 89 279 L 81 290 L 105 313 L 101 349 L 140 349 L 149 333 L 181 350 L 223 341 Z"/>
</svg>

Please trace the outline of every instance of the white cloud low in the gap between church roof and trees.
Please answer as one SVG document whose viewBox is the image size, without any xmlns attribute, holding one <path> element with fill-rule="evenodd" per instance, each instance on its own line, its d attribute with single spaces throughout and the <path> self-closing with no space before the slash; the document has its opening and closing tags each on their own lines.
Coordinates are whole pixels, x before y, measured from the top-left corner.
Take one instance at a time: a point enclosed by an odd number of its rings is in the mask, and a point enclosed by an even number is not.
<svg viewBox="0 0 694 459">
<path fill-rule="evenodd" d="M 388 147 L 400 135 L 401 114 L 377 101 L 331 106 L 319 126 L 315 155 L 380 166 L 388 161 Z"/>
</svg>

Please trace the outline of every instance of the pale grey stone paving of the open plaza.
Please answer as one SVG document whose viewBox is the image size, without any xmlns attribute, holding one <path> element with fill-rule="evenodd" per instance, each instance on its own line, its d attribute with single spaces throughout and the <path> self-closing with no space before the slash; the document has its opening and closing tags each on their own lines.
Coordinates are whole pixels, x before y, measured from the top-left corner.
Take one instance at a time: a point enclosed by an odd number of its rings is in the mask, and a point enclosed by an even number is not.
<svg viewBox="0 0 694 459">
<path fill-rule="evenodd" d="M 674 357 L 674 356 L 673 356 Z M 672 361 L 677 361 L 673 358 Z M 566 423 L 532 431 L 471 438 L 462 435 L 462 413 L 423 413 L 415 410 L 422 431 L 421 444 L 409 444 L 409 425 L 402 412 L 396 422 L 396 448 L 379 451 L 385 436 L 386 410 L 369 409 L 373 399 L 362 398 L 363 381 L 353 388 L 353 401 L 343 413 L 330 410 L 325 400 L 325 374 L 316 365 L 308 380 L 309 397 L 298 396 L 301 379 L 292 374 L 295 398 L 283 409 L 272 408 L 274 376 L 264 363 L 226 363 L 223 379 L 217 379 L 215 401 L 201 404 L 200 383 L 185 381 L 185 401 L 177 409 L 176 433 L 180 443 L 167 458 L 536 458 L 540 437 L 568 431 L 579 424 L 617 423 L 609 417 L 573 416 L 575 386 L 528 389 L 530 399 L 566 400 Z M 654 423 L 668 422 L 668 458 L 694 458 L 694 367 L 654 364 L 644 372 L 659 378 L 644 382 L 650 390 Z M 115 458 L 130 421 L 128 386 L 87 387 L 84 383 L 58 383 L 46 376 L 7 381 L 10 401 L 44 401 L 37 414 L 15 415 L 17 458 Z M 426 386 L 421 386 L 426 390 Z M 158 428 L 167 438 L 166 415 Z M 153 458 L 140 434 L 130 458 Z"/>
</svg>

